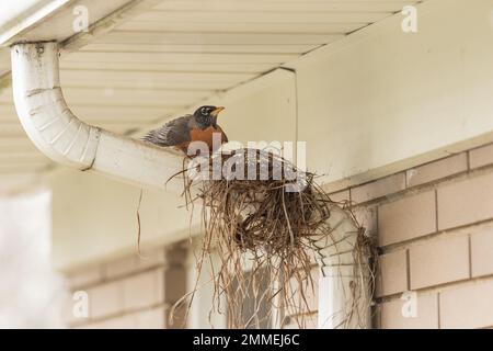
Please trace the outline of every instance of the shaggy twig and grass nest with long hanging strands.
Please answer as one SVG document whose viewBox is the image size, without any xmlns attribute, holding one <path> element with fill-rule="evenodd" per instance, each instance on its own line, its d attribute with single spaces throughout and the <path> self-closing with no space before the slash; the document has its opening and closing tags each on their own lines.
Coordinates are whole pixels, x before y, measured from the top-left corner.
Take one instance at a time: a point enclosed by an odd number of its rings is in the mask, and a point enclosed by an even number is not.
<svg viewBox="0 0 493 351">
<path fill-rule="evenodd" d="M 218 167 L 221 177 L 214 179 Z M 316 291 L 313 242 L 331 235 L 326 223 L 334 203 L 313 173 L 273 152 L 242 149 L 219 161 L 195 161 L 186 170 L 198 168 L 202 177 L 184 177 L 184 195 L 187 205 L 202 208 L 196 270 L 200 274 L 209 265 L 209 315 L 226 314 L 229 328 L 305 327 L 311 313 L 307 296 Z M 190 296 L 190 307 L 198 288 L 197 279 L 181 302 Z"/>
</svg>

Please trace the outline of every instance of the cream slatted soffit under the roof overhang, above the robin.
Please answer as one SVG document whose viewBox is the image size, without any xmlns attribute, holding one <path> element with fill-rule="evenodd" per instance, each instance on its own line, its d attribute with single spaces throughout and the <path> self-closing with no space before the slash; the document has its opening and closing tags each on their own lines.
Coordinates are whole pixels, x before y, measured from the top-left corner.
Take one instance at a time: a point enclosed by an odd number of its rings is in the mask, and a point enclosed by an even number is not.
<svg viewBox="0 0 493 351">
<path fill-rule="evenodd" d="M 217 91 L 254 79 L 402 10 L 402 0 L 161 1 L 61 57 L 72 111 L 117 133 L 146 129 Z M 0 50 L 0 76 L 9 71 Z M 0 191 L 53 165 L 0 92 Z"/>
</svg>

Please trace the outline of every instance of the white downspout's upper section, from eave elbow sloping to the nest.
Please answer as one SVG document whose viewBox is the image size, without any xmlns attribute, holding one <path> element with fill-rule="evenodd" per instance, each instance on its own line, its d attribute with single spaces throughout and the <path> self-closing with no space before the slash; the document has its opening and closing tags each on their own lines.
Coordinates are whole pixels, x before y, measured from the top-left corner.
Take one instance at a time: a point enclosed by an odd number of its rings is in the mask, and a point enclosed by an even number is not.
<svg viewBox="0 0 493 351">
<path fill-rule="evenodd" d="M 60 88 L 57 43 L 14 44 L 11 57 L 19 120 L 35 146 L 55 162 L 161 189 L 182 169 L 177 152 L 87 124 L 70 111 Z M 172 180 L 167 189 L 179 185 Z"/>
</svg>

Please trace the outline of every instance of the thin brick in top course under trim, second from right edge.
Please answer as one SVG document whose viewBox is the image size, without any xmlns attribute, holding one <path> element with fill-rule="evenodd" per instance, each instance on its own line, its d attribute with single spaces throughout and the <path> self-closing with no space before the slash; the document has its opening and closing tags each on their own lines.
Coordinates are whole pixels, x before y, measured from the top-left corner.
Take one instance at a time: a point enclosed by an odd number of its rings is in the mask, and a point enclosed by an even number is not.
<svg viewBox="0 0 493 351">
<path fill-rule="evenodd" d="M 408 186 L 415 186 L 468 170 L 467 154 L 458 154 L 408 170 Z"/>
</svg>

